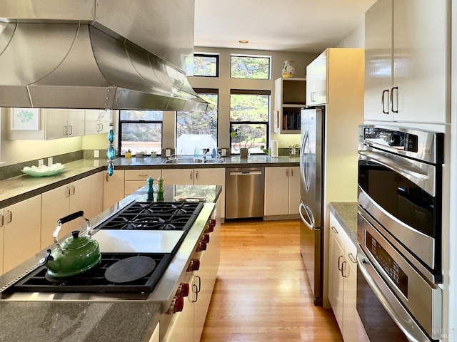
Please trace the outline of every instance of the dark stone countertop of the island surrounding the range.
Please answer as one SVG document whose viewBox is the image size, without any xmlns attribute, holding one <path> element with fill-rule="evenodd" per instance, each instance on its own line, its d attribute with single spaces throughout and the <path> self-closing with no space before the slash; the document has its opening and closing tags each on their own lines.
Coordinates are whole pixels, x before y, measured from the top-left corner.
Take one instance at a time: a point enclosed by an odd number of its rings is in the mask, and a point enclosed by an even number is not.
<svg viewBox="0 0 457 342">
<path fill-rule="evenodd" d="M 151 197 L 147 190 L 147 186 L 141 188 L 114 207 L 99 214 L 92 222 L 104 220 L 119 209 L 128 206 L 132 201 L 149 201 Z M 164 202 L 175 202 L 176 198 L 186 196 L 206 197 L 205 205 L 214 207 L 212 203 L 217 202 L 221 187 L 174 185 L 165 186 L 164 190 Z M 156 191 L 154 199 L 156 199 Z M 93 226 L 96 229 L 96 223 Z M 195 235 L 194 233 L 192 232 L 193 235 Z M 190 231 L 185 239 L 194 238 L 192 234 Z M 0 289 L 4 289 L 11 281 L 34 267 L 44 254 L 45 250 L 0 276 Z M 158 286 L 161 285 L 161 281 L 162 279 L 159 280 Z M 174 290 L 171 289 L 171 291 Z M 164 307 L 163 302 L 154 300 L 154 292 L 149 299 L 144 300 L 121 300 L 109 297 L 94 301 L 59 300 L 59 294 L 54 294 L 49 300 L 35 300 L 34 294 L 24 301 L 9 300 L 4 297 L 0 294 L 0 341 L 2 342 L 149 341 L 157 323 L 162 319 L 161 316 L 163 317 L 164 312 L 168 309 Z M 166 326 L 161 325 L 161 328 L 166 328 Z M 164 332 L 161 331 L 161 337 L 163 335 Z"/>
</svg>

